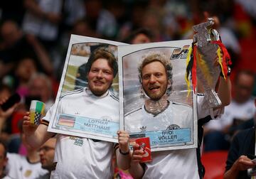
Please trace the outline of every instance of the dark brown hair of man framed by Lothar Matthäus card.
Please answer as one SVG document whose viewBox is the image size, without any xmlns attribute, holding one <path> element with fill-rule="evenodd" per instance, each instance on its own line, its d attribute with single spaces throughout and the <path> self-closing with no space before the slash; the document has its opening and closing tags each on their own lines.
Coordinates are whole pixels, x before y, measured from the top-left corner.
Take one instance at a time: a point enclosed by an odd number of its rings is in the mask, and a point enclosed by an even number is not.
<svg viewBox="0 0 256 179">
<path fill-rule="evenodd" d="M 105 47 L 96 48 L 92 55 L 90 55 L 90 58 L 88 59 L 85 70 L 87 71 L 87 74 L 90 72 L 90 68 L 92 67 L 92 63 L 94 63 L 97 59 L 104 58 L 107 60 L 108 65 L 113 69 L 113 75 L 117 75 L 118 71 L 118 65 L 117 65 L 117 59 L 114 57 L 113 53 L 110 52 Z"/>
</svg>

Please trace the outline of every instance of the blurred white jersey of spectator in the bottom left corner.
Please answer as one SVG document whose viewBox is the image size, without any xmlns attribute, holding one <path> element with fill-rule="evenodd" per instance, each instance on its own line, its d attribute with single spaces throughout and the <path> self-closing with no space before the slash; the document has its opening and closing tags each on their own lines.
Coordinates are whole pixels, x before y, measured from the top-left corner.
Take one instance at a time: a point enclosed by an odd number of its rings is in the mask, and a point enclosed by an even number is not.
<svg viewBox="0 0 256 179">
<path fill-rule="evenodd" d="M 21 156 L 17 153 L 7 153 L 7 175 L 10 178 L 26 178 L 34 179 L 48 173 L 41 167 L 40 161 L 37 163 L 30 163 L 26 156 Z"/>
</svg>

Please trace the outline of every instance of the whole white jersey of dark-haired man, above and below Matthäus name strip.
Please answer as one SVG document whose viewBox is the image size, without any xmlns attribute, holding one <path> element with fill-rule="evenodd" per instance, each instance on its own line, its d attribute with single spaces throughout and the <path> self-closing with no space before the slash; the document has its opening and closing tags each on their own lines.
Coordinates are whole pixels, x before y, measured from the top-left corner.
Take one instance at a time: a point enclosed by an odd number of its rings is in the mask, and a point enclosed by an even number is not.
<svg viewBox="0 0 256 179">
<path fill-rule="evenodd" d="M 111 92 L 96 97 L 89 89 L 63 94 L 58 112 L 119 121 L 119 102 Z M 53 107 L 43 118 L 49 121 Z M 112 178 L 113 143 L 76 136 L 57 135 L 55 170 L 51 178 Z"/>
</svg>

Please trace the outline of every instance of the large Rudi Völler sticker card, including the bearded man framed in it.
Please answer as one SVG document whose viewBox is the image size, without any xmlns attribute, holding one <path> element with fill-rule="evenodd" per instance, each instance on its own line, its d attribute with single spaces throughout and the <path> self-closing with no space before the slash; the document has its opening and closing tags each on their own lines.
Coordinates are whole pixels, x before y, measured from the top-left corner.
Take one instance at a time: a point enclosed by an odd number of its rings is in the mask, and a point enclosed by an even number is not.
<svg viewBox="0 0 256 179">
<path fill-rule="evenodd" d="M 151 151 L 197 147 L 196 94 L 188 93 L 185 80 L 191 45 L 176 40 L 118 47 L 120 129 L 130 141 L 149 137 Z"/>
</svg>

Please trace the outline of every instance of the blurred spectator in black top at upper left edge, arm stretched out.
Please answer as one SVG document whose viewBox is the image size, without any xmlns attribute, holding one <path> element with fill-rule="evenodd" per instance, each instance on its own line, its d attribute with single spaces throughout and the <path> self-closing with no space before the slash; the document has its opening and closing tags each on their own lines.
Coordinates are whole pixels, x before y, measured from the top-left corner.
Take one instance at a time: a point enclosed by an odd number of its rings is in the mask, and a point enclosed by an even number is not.
<svg viewBox="0 0 256 179">
<path fill-rule="evenodd" d="M 0 77 L 12 72 L 14 65 L 22 58 L 32 58 L 39 71 L 52 74 L 48 53 L 34 36 L 24 36 L 14 21 L 5 21 L 0 33 Z"/>
</svg>

